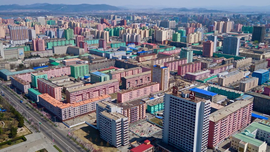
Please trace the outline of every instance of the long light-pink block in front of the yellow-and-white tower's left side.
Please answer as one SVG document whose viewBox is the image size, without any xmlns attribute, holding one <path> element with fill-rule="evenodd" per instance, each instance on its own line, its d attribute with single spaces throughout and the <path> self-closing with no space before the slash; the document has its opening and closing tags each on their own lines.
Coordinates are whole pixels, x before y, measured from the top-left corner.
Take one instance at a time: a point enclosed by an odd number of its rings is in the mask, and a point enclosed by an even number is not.
<svg viewBox="0 0 270 152">
<path fill-rule="evenodd" d="M 117 93 L 117 102 L 127 102 L 159 91 L 159 83 L 150 83 Z"/>
</svg>

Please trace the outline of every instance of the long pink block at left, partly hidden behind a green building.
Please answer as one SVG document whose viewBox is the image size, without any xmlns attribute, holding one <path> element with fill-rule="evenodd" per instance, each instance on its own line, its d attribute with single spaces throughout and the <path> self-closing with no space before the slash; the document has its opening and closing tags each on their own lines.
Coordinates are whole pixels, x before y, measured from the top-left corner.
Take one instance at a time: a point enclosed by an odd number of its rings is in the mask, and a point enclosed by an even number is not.
<svg viewBox="0 0 270 152">
<path fill-rule="evenodd" d="M 23 74 L 18 74 L 15 76 L 18 76 L 19 78 L 23 79 L 24 81 L 31 82 L 31 74 L 32 73 L 39 73 L 39 72 L 44 72 L 45 74 L 48 75 L 48 78 L 52 77 L 58 77 L 58 76 L 68 76 L 70 75 L 70 66 L 63 66 L 59 68 L 53 68 L 53 69 L 46 69 L 46 70 L 40 70 L 36 72 L 29 72 L 29 73 L 23 73 Z"/>
</svg>

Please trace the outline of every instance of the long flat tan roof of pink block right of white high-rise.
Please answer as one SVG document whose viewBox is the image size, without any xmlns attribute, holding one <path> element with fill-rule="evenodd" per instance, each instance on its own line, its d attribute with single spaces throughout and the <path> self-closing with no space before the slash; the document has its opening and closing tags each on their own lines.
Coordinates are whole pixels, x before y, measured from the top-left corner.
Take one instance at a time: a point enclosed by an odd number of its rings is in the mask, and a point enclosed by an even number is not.
<svg viewBox="0 0 270 152">
<path fill-rule="evenodd" d="M 209 115 L 209 120 L 212 122 L 218 122 L 223 118 L 228 117 L 230 114 L 235 113 L 237 110 L 246 107 L 247 105 L 253 103 L 249 100 L 237 100 Z"/>
</svg>

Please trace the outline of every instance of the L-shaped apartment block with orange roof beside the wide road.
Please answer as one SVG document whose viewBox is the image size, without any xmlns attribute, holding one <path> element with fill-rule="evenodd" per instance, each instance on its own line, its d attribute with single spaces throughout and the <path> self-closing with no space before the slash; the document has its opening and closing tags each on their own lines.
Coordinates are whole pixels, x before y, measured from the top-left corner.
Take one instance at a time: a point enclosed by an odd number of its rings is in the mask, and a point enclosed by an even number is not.
<svg viewBox="0 0 270 152">
<path fill-rule="evenodd" d="M 102 101 L 111 102 L 112 100 L 109 95 L 99 96 L 75 103 L 60 102 L 49 96 L 49 94 L 40 94 L 38 95 L 38 98 L 41 106 L 44 106 L 62 121 L 93 113 L 96 110 L 96 103 Z"/>
</svg>

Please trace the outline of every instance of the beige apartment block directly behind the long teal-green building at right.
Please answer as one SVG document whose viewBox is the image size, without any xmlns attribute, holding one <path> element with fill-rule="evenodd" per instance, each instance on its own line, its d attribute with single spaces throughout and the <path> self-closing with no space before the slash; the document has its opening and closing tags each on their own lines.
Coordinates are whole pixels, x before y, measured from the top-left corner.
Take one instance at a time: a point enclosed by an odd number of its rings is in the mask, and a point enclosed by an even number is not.
<svg viewBox="0 0 270 152">
<path fill-rule="evenodd" d="M 244 71 L 235 71 L 225 76 L 218 77 L 218 84 L 221 86 L 226 86 L 232 82 L 236 82 L 238 80 L 243 79 L 243 76 Z"/>
</svg>

